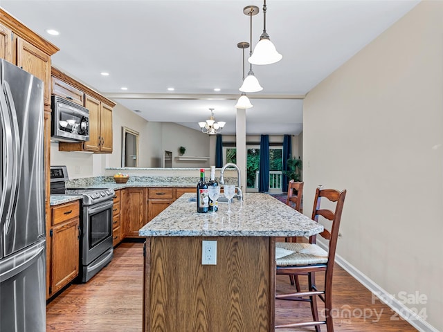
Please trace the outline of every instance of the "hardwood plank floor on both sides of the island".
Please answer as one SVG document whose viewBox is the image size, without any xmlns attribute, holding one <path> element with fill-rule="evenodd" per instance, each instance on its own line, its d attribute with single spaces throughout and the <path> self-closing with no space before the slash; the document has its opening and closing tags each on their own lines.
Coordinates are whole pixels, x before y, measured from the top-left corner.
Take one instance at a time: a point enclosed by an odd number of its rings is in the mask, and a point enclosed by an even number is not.
<svg viewBox="0 0 443 332">
<path fill-rule="evenodd" d="M 48 304 L 47 331 L 141 332 L 143 289 L 143 243 L 121 243 L 114 259 L 87 284 L 71 285 Z M 318 284 L 320 284 L 320 277 Z M 300 279 L 303 284 L 304 279 Z M 287 276 L 277 276 L 277 291 L 290 287 Z M 334 270 L 334 331 L 417 331 L 401 320 L 339 266 Z M 372 303 L 374 302 L 374 303 Z M 319 311 L 323 308 L 321 301 Z M 277 323 L 291 316 L 311 318 L 308 303 L 276 301 Z M 314 328 L 277 331 L 315 331 Z M 322 326 L 322 331 L 326 328 Z M 176 332 L 176 331 L 170 331 Z M 179 332 L 179 331 L 177 331 Z M 186 331 L 192 332 L 192 331 Z M 229 331 L 207 331 L 229 332 Z M 251 331 L 252 332 L 252 331 Z"/>
</svg>

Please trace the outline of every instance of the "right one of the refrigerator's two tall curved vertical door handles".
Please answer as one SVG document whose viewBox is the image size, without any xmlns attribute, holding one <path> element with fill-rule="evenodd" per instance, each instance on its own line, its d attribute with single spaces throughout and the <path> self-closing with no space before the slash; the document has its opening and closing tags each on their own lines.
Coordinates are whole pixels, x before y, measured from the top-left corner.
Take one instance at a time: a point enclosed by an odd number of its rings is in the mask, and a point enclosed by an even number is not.
<svg viewBox="0 0 443 332">
<path fill-rule="evenodd" d="M 19 165 L 19 147 L 20 147 L 20 138 L 19 138 L 19 124 L 17 120 L 17 111 L 15 110 L 14 98 L 12 98 L 11 89 L 9 87 L 8 82 L 5 80 L 3 83 L 3 89 L 6 92 L 6 104 L 9 104 L 8 111 L 10 112 L 11 118 L 11 133 L 12 133 L 12 178 L 11 178 L 11 191 L 10 191 L 10 199 L 8 203 L 9 208 L 6 214 L 6 220 L 4 229 L 8 230 L 10 221 L 12 218 L 12 213 L 15 211 L 15 207 L 17 205 L 17 183 L 19 183 L 20 173 L 18 172 L 21 169 Z M 3 95 L 2 95 L 3 96 Z"/>
</svg>

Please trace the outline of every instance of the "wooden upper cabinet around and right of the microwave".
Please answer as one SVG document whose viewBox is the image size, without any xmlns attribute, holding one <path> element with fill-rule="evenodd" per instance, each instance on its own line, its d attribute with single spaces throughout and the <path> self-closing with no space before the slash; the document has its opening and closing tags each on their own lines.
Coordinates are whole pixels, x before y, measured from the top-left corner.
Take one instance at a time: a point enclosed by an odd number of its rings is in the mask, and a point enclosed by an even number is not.
<svg viewBox="0 0 443 332">
<path fill-rule="evenodd" d="M 112 152 L 112 109 L 116 104 L 57 68 L 52 68 L 52 76 L 53 94 L 72 100 L 89 110 L 89 141 L 59 142 L 59 151 L 110 154 Z"/>
</svg>

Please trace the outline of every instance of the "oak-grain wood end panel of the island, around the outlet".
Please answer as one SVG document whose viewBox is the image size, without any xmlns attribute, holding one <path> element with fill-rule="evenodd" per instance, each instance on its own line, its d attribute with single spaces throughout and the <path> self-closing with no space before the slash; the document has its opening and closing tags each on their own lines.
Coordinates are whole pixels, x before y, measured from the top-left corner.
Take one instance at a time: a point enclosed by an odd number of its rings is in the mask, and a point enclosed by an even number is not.
<svg viewBox="0 0 443 332">
<path fill-rule="evenodd" d="M 201 241 L 217 240 L 217 265 L 201 265 Z M 145 332 L 273 331 L 266 237 L 151 237 Z"/>
</svg>

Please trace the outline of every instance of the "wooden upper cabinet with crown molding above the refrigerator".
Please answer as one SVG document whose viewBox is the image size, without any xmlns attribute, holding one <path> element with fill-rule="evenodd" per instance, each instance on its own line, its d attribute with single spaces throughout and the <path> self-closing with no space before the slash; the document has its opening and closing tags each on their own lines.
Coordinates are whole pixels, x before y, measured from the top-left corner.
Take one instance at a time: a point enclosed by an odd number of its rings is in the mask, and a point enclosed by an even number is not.
<svg viewBox="0 0 443 332">
<path fill-rule="evenodd" d="M 0 57 L 44 82 L 44 104 L 51 105 L 51 55 L 59 50 L 0 8 Z"/>
</svg>

